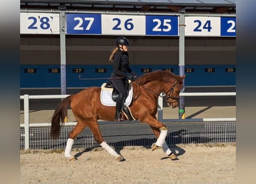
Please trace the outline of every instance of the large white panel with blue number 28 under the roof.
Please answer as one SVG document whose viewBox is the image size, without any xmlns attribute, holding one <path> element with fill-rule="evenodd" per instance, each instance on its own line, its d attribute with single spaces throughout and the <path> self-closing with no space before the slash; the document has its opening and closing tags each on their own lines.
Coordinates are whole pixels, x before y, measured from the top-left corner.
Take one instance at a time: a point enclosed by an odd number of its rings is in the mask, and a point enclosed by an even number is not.
<svg viewBox="0 0 256 184">
<path fill-rule="evenodd" d="M 20 13 L 21 34 L 59 34 L 58 13 Z"/>
</svg>

